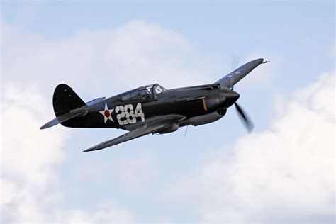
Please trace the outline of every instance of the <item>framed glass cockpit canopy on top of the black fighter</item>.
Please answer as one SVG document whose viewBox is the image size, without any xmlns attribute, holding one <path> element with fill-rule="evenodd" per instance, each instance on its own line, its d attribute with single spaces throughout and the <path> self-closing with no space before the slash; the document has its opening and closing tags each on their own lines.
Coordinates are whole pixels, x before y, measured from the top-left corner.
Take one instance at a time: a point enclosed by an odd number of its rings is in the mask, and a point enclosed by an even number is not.
<svg viewBox="0 0 336 224">
<path fill-rule="evenodd" d="M 147 86 L 141 86 L 138 89 L 128 91 L 124 96 L 121 97 L 123 101 L 130 100 L 152 100 L 156 99 L 157 95 L 162 94 L 166 89 L 159 84 L 150 84 Z"/>
</svg>

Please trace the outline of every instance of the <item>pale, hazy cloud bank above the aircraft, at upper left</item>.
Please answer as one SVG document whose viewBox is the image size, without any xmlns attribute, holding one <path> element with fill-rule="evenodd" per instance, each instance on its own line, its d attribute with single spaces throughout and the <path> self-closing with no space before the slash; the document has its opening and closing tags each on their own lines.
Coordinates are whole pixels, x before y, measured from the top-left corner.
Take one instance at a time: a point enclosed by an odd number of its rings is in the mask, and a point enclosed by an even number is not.
<svg viewBox="0 0 336 224">
<path fill-rule="evenodd" d="M 142 21 L 114 30 L 77 30 L 54 41 L 4 21 L 1 26 L 6 82 L 38 84 L 47 92 L 67 83 L 75 90 L 110 96 L 155 82 L 172 88 L 215 81 L 207 79 L 214 63 L 197 55 L 183 35 Z"/>
</svg>

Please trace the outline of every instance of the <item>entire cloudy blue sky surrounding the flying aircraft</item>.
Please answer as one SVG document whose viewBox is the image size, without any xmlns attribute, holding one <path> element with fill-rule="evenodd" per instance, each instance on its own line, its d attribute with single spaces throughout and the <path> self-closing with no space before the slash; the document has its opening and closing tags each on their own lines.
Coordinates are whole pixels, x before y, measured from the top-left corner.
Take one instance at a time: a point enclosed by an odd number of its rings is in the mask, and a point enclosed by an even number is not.
<svg viewBox="0 0 336 224">
<path fill-rule="evenodd" d="M 334 223 L 334 1 L 1 1 L 2 223 Z M 263 57 L 215 123 L 61 125 L 52 94 L 211 84 Z"/>
</svg>

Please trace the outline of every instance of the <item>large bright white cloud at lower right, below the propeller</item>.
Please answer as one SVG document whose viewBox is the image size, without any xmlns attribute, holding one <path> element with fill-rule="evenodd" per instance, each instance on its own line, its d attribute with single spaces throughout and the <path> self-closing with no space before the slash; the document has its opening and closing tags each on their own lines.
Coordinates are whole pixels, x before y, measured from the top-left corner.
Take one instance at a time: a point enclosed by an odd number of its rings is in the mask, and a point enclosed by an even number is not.
<svg viewBox="0 0 336 224">
<path fill-rule="evenodd" d="M 269 130 L 208 155 L 164 198 L 194 205 L 204 221 L 332 222 L 334 103 L 335 74 L 323 74 L 283 101 Z"/>
</svg>

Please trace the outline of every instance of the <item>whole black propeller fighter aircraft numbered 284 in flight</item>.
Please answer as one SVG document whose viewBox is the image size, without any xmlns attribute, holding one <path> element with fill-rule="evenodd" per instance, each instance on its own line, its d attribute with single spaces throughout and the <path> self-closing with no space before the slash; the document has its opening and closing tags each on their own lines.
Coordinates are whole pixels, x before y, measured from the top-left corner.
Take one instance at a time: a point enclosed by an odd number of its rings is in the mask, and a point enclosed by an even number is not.
<svg viewBox="0 0 336 224">
<path fill-rule="evenodd" d="M 236 103 L 240 94 L 233 86 L 255 69 L 267 63 L 259 58 L 247 62 L 213 84 L 164 89 L 159 84 L 141 86 L 123 94 L 84 103 L 66 84 L 59 84 L 52 104 L 56 118 L 40 129 L 61 123 L 71 128 L 121 128 L 128 133 L 90 147 L 84 152 L 101 150 L 148 134 L 171 133 L 185 125 L 203 125 L 223 118 L 235 104 L 249 132 L 253 124 Z"/>
</svg>

